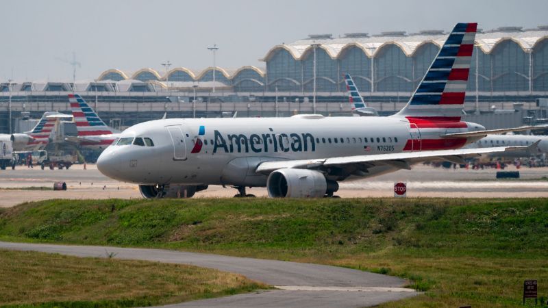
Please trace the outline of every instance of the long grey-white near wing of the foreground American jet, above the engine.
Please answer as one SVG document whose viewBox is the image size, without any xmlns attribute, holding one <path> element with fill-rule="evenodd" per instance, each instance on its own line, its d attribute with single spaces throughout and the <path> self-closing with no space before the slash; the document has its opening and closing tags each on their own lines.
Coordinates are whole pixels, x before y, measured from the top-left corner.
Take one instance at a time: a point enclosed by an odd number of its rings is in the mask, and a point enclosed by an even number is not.
<svg viewBox="0 0 548 308">
<path fill-rule="evenodd" d="M 538 142 L 531 146 L 536 146 Z M 406 153 L 388 153 L 374 155 L 356 155 L 345 157 L 332 157 L 321 159 L 292 159 L 275 162 L 262 162 L 256 168 L 256 172 L 269 174 L 281 168 L 299 169 L 327 169 L 330 167 L 344 167 L 347 170 L 366 171 L 373 166 L 394 166 L 400 169 L 410 169 L 412 164 L 419 162 L 444 160 L 456 164 L 464 164 L 464 158 L 480 156 L 482 154 L 504 153 L 528 149 L 527 146 L 497 146 L 492 148 L 479 149 L 458 149 L 442 151 L 421 151 Z M 351 172 L 351 171 L 350 171 Z"/>
</svg>

